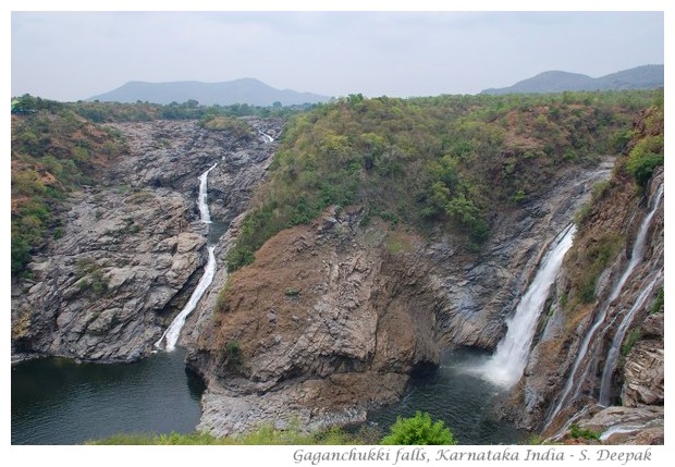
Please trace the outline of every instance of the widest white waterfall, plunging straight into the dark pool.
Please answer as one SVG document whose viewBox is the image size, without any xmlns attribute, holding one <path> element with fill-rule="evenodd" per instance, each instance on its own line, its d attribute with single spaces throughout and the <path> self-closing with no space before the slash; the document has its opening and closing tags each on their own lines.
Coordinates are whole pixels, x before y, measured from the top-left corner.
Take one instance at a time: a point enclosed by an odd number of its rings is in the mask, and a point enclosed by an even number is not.
<svg viewBox="0 0 675 467">
<path fill-rule="evenodd" d="M 569 224 L 549 247 L 537 275 L 507 322 L 506 335 L 499 343 L 492 357 L 481 368 L 478 368 L 483 379 L 504 388 L 511 388 L 523 376 L 535 337 L 537 321 L 549 296 L 551 284 L 555 281 L 563 265 L 563 258 L 572 247 L 575 232 L 576 226 Z"/>
</svg>

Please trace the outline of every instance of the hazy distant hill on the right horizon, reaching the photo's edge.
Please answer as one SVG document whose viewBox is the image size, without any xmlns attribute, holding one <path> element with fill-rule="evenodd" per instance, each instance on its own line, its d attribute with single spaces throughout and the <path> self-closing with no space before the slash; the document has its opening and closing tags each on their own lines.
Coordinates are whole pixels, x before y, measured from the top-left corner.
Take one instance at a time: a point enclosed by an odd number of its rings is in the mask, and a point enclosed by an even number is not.
<svg viewBox="0 0 675 467">
<path fill-rule="evenodd" d="M 663 86 L 663 65 L 643 65 L 592 78 L 578 73 L 543 72 L 510 87 L 481 94 L 562 93 L 565 90 L 653 89 Z"/>
</svg>

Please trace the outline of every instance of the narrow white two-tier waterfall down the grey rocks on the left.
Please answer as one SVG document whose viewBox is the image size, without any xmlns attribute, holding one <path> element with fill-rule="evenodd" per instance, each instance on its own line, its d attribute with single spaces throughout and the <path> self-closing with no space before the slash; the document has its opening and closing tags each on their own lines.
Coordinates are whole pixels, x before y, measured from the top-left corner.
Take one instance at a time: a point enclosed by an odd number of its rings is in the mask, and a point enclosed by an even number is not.
<svg viewBox="0 0 675 467">
<path fill-rule="evenodd" d="M 209 212 L 209 205 L 207 202 L 207 177 L 209 176 L 209 172 L 216 169 L 217 165 L 218 163 L 214 163 L 209 170 L 199 175 L 199 197 L 197 199 L 197 204 L 199 206 L 201 222 L 205 223 L 211 223 L 211 214 Z M 185 324 L 187 316 L 193 312 L 193 310 L 197 307 L 197 304 L 201 299 L 201 296 L 209 287 L 209 285 L 211 285 L 211 282 L 213 281 L 213 275 L 216 275 L 216 255 L 213 253 L 214 249 L 216 245 L 210 245 L 208 247 L 209 260 L 204 268 L 204 274 L 199 280 L 197 287 L 191 295 L 189 300 L 187 300 L 185 307 L 183 307 L 181 312 L 173 319 L 173 321 L 171 321 L 171 324 L 169 324 L 169 328 L 167 328 L 159 341 L 155 343 L 156 347 L 160 348 L 162 341 L 165 339 L 164 349 L 171 352 L 175 348 L 175 344 L 179 341 L 181 330 Z"/>
</svg>

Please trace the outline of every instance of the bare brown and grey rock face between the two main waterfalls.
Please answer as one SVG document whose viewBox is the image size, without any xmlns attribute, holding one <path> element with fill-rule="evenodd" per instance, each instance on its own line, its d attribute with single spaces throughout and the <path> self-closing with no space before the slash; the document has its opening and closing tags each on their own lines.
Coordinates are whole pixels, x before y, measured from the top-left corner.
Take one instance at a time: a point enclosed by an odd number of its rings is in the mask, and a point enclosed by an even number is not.
<svg viewBox="0 0 675 467">
<path fill-rule="evenodd" d="M 199 428 L 363 420 L 441 348 L 493 348 L 548 245 L 610 168 L 560 174 L 545 197 L 494 220 L 480 255 L 459 238 L 364 225 L 352 207 L 278 234 L 231 278 L 219 271 L 225 292 L 211 288 L 184 340 L 208 381 Z M 223 249 L 235 234 L 236 222 Z"/>
</svg>

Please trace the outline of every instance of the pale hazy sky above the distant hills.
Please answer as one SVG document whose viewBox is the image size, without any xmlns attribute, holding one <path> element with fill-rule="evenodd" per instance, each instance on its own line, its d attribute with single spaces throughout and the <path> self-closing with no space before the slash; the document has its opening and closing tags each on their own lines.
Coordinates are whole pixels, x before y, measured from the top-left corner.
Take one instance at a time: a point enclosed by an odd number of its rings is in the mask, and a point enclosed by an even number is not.
<svg viewBox="0 0 675 467">
<path fill-rule="evenodd" d="M 11 90 L 256 77 L 329 96 L 475 94 L 664 62 L 663 12 L 12 12 Z"/>
</svg>

